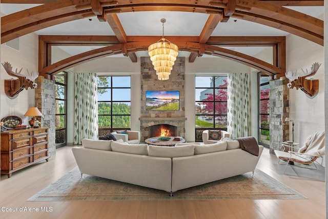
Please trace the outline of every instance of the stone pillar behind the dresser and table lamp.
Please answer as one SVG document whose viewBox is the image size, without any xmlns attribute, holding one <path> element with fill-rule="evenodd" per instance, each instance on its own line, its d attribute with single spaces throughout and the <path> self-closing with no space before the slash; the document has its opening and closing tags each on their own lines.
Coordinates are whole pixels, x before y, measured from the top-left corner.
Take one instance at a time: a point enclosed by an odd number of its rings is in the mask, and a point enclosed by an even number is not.
<svg viewBox="0 0 328 219">
<path fill-rule="evenodd" d="M 55 81 L 38 76 L 35 80 L 35 107 L 44 115 L 37 117 L 41 126 L 50 127 L 49 129 L 49 155 L 56 154 L 56 130 L 55 130 Z"/>
</svg>

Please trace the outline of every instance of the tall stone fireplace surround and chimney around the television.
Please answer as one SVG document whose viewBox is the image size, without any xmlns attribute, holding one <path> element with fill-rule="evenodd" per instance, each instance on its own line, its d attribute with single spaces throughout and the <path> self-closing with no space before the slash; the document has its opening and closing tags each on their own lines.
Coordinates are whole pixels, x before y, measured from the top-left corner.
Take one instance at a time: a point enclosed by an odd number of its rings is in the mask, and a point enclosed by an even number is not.
<svg viewBox="0 0 328 219">
<path fill-rule="evenodd" d="M 185 137 L 185 57 L 177 57 L 170 78 L 157 79 L 150 57 L 140 58 L 141 66 L 141 142 L 149 137 L 148 127 L 158 124 L 177 126 L 177 134 Z M 146 110 L 146 91 L 180 91 L 179 110 Z"/>
</svg>

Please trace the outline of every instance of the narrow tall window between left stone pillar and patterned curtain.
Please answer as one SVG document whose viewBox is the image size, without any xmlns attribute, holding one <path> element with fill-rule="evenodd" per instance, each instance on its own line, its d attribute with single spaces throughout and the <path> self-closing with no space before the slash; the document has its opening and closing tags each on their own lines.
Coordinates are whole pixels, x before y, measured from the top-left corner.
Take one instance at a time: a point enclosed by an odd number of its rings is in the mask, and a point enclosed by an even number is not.
<svg viewBox="0 0 328 219">
<path fill-rule="evenodd" d="M 66 72 L 55 75 L 56 148 L 66 145 Z"/>
</svg>

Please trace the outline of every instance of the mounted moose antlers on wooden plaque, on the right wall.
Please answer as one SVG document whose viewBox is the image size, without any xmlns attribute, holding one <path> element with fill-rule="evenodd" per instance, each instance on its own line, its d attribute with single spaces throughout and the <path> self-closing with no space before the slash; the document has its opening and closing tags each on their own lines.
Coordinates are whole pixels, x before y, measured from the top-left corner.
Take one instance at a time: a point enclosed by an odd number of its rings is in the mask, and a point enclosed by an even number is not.
<svg viewBox="0 0 328 219">
<path fill-rule="evenodd" d="M 287 87 L 290 89 L 296 87 L 296 90 L 298 90 L 299 88 L 310 98 L 315 97 L 319 91 L 319 80 L 313 78 L 306 79 L 306 77 L 315 75 L 320 65 L 321 64 L 319 63 L 312 64 L 310 72 L 308 72 L 308 69 L 306 69 L 306 72 L 302 69 L 303 73 L 297 73 L 297 70 L 295 71 L 295 73 L 293 73 L 292 71 L 286 72 L 286 77 L 290 79 L 290 81 L 292 81 L 287 84 Z"/>
</svg>

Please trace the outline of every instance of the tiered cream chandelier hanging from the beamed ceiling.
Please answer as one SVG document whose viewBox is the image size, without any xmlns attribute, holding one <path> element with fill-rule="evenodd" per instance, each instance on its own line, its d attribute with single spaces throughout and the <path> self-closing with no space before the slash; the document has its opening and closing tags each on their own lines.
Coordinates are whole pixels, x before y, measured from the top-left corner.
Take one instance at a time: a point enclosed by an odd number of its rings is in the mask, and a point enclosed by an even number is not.
<svg viewBox="0 0 328 219">
<path fill-rule="evenodd" d="M 160 19 L 163 25 L 162 38 L 148 47 L 148 54 L 159 80 L 168 80 L 178 55 L 178 46 L 164 38 L 165 18 Z"/>
</svg>

